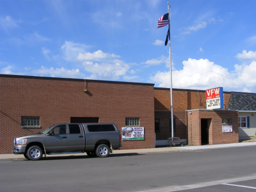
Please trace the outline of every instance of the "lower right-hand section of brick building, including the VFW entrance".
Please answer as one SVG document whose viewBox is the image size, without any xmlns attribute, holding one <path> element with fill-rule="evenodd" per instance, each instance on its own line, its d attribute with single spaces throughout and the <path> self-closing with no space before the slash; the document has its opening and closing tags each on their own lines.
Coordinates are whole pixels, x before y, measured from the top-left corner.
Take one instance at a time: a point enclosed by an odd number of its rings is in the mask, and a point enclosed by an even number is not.
<svg viewBox="0 0 256 192">
<path fill-rule="evenodd" d="M 227 109 L 231 92 L 223 93 Z M 238 110 L 207 110 L 205 90 L 172 89 L 174 137 L 188 144 L 220 144 L 238 142 Z M 165 145 L 171 133 L 170 89 L 155 88 L 156 143 Z M 229 119 L 233 131 L 222 132 L 223 119 Z"/>
</svg>

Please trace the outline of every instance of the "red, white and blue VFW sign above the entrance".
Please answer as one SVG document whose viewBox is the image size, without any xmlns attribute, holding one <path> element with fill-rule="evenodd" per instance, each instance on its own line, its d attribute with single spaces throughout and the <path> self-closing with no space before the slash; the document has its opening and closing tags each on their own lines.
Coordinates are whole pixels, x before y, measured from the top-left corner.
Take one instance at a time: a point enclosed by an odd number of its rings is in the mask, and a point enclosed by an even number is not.
<svg viewBox="0 0 256 192">
<path fill-rule="evenodd" d="M 223 88 L 206 90 L 206 109 L 223 108 Z"/>
</svg>

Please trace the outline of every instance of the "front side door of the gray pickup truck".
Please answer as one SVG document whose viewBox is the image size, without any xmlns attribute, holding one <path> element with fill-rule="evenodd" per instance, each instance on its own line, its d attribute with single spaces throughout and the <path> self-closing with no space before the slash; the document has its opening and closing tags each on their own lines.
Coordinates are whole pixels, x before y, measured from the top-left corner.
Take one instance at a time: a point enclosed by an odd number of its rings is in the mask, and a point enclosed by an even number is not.
<svg viewBox="0 0 256 192">
<path fill-rule="evenodd" d="M 68 151 L 68 135 L 66 124 L 57 125 L 54 127 L 54 129 L 52 129 L 51 135 L 45 134 L 45 150 L 46 153 Z"/>
</svg>

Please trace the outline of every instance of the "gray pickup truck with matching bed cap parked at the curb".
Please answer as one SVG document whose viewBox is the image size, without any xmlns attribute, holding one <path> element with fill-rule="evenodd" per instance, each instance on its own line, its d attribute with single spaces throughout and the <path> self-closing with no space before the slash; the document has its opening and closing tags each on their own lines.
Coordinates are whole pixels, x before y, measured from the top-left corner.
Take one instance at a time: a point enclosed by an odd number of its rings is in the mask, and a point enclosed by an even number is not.
<svg viewBox="0 0 256 192">
<path fill-rule="evenodd" d="M 90 157 L 107 157 L 122 147 L 121 135 L 113 123 L 57 124 L 32 135 L 14 139 L 14 154 L 39 160 L 43 154 L 87 153 Z"/>
</svg>

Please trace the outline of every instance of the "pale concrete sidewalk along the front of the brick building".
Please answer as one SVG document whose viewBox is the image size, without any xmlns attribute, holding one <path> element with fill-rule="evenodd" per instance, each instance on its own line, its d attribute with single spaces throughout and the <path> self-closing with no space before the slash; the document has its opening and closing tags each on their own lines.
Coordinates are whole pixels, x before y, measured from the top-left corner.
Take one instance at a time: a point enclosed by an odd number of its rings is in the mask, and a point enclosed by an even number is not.
<svg viewBox="0 0 256 192">
<path fill-rule="evenodd" d="M 205 146 L 183 146 L 183 147 L 161 147 L 161 148 L 151 148 L 151 149 L 127 149 L 127 150 L 114 150 L 113 154 L 147 154 L 147 153 L 170 153 L 170 152 L 184 152 L 192 150 L 207 150 L 207 149 L 221 149 L 230 147 L 246 147 L 246 146 L 256 146 L 256 142 L 248 143 L 230 143 L 230 144 L 216 144 L 216 145 L 205 145 Z M 61 157 L 61 156 L 81 156 L 86 155 L 86 153 L 77 154 L 61 154 L 61 155 L 46 155 L 46 157 Z M 25 159 L 24 155 L 14 155 L 14 154 L 0 154 L 0 160 L 15 160 L 15 159 Z"/>
</svg>

